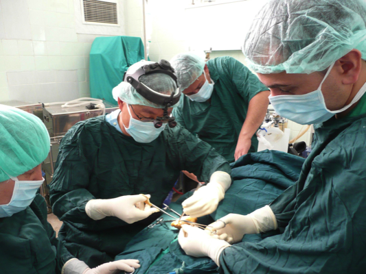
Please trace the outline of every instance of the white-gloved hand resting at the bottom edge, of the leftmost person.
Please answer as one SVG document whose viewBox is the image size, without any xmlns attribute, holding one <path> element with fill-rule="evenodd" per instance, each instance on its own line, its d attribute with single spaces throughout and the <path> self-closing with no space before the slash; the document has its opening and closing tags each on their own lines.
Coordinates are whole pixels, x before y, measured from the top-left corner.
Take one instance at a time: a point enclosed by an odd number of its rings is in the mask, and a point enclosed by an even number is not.
<svg viewBox="0 0 366 274">
<path fill-rule="evenodd" d="M 119 260 L 107 262 L 89 269 L 89 266 L 78 259 L 71 259 L 62 267 L 62 274 L 114 274 L 119 271 L 133 272 L 140 267 L 139 260 Z"/>
</svg>

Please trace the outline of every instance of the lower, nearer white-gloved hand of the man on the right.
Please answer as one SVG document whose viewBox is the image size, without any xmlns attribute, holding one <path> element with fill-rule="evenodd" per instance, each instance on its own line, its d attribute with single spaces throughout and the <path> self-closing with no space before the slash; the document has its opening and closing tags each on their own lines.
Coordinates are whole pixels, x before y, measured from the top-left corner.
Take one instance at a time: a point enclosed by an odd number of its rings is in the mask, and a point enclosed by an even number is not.
<svg viewBox="0 0 366 274">
<path fill-rule="evenodd" d="M 209 236 L 202 229 L 190 225 L 182 225 L 178 236 L 179 244 L 185 253 L 194 257 L 209 257 L 218 266 L 222 250 L 229 247 L 225 240 Z"/>
</svg>

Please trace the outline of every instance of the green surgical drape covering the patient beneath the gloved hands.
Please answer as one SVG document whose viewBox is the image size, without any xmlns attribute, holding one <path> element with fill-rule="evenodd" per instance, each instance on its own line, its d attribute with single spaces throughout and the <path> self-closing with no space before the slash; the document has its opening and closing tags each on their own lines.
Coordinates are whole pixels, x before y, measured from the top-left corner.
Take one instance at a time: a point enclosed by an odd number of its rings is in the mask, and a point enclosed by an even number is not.
<svg viewBox="0 0 366 274">
<path fill-rule="evenodd" d="M 220 201 L 217 210 L 198 218 L 198 223 L 209 225 L 229 213 L 249 214 L 273 201 L 286 188 L 299 179 L 304 159 L 282 151 L 248 153 L 231 164 L 233 182 Z M 182 211 L 181 203 L 192 195 L 187 192 L 170 208 Z M 161 216 L 171 220 L 170 216 Z M 156 224 L 157 222 L 155 222 Z M 154 224 L 153 224 L 154 225 Z M 135 274 L 197 274 L 218 273 L 218 267 L 210 258 L 187 256 L 177 240 L 179 230 L 168 223 L 159 223 L 139 232 L 115 260 L 135 258 L 141 267 Z M 259 234 L 251 235 L 257 236 Z M 246 272 L 242 272 L 246 273 Z"/>
</svg>

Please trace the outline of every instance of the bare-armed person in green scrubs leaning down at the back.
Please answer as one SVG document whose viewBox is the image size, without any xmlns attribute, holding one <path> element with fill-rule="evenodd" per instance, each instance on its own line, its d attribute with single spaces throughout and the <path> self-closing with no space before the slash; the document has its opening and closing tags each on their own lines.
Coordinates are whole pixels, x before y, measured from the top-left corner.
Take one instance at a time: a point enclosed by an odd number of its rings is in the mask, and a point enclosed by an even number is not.
<svg viewBox="0 0 366 274">
<path fill-rule="evenodd" d="M 203 56 L 180 53 L 170 62 L 185 95 L 173 110 L 176 121 L 228 162 L 257 151 L 255 133 L 263 123 L 269 96 L 258 77 L 229 56 L 205 63 Z"/>
</svg>

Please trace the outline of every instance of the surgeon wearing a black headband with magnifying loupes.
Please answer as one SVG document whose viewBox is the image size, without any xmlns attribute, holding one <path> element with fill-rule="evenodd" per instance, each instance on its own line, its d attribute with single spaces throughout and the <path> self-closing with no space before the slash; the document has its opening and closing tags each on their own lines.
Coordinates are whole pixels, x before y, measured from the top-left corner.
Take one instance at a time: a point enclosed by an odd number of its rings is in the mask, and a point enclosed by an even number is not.
<svg viewBox="0 0 366 274">
<path fill-rule="evenodd" d="M 181 95 L 173 72 L 165 60 L 133 64 L 113 89 L 119 110 L 62 138 L 50 199 L 60 240 L 89 266 L 113 260 L 157 219 L 144 195 L 162 208 L 181 170 L 208 183 L 183 202 L 191 216 L 214 212 L 231 184 L 225 158 L 170 116 Z"/>
</svg>

